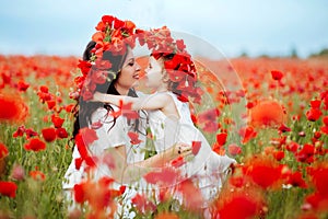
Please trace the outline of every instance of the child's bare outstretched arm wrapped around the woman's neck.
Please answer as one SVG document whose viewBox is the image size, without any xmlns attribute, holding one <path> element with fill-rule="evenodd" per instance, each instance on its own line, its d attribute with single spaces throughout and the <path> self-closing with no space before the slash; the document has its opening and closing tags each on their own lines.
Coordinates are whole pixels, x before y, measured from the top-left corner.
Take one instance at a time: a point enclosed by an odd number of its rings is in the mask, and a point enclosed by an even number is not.
<svg viewBox="0 0 328 219">
<path fill-rule="evenodd" d="M 113 95 L 95 92 L 93 95 L 94 101 L 109 103 L 119 106 L 120 102 L 128 104 L 131 103 L 132 111 L 139 110 L 161 110 L 169 102 L 169 96 L 165 93 L 156 93 L 152 95 L 144 95 L 142 97 L 131 97 L 126 95 Z"/>
</svg>

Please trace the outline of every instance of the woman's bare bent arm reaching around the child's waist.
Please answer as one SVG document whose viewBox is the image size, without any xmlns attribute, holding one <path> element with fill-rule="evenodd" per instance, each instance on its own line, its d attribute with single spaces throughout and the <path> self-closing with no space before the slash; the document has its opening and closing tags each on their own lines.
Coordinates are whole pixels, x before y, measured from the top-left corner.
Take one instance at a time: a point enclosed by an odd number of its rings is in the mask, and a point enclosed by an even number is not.
<svg viewBox="0 0 328 219">
<path fill-rule="evenodd" d="M 184 143 L 176 143 L 161 153 L 136 163 L 127 163 L 126 146 L 110 148 L 107 152 L 110 153 L 114 160 L 110 169 L 114 180 L 124 184 L 136 182 L 144 174 L 165 166 L 165 164 L 180 155 L 185 158 L 192 154 L 191 146 Z"/>
</svg>

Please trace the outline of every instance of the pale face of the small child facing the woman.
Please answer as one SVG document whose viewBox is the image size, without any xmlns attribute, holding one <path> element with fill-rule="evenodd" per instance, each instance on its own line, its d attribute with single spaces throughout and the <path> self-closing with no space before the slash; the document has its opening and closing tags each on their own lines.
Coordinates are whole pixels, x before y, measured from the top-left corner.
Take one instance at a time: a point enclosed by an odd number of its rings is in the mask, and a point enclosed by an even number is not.
<svg viewBox="0 0 328 219">
<path fill-rule="evenodd" d="M 151 56 L 144 71 L 147 73 L 147 87 L 157 89 L 163 84 L 163 65 L 160 60 Z"/>
</svg>

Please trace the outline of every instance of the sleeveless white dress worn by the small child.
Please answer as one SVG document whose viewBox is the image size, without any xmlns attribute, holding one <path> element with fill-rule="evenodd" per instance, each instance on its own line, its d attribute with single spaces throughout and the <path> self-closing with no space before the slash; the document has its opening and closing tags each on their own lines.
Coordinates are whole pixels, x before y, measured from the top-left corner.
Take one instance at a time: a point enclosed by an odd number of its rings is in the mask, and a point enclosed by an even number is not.
<svg viewBox="0 0 328 219">
<path fill-rule="evenodd" d="M 198 154 L 181 166 L 181 172 L 201 189 L 206 200 L 203 207 L 207 207 L 216 197 L 222 186 L 222 177 L 225 176 L 229 166 L 236 161 L 212 151 L 202 132 L 195 127 L 188 103 L 180 102 L 172 92 L 166 93 L 172 96 L 179 118 L 166 116 L 161 111 L 148 111 L 149 125 L 154 136 L 156 151 L 161 152 L 175 142 L 188 145 L 191 145 L 192 141 L 201 142 Z"/>
</svg>

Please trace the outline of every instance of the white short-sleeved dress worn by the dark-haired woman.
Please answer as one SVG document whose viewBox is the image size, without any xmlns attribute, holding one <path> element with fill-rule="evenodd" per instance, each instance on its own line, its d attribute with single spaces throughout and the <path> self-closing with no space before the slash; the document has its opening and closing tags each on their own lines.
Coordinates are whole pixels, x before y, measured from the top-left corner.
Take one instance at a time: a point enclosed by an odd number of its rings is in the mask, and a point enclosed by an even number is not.
<svg viewBox="0 0 328 219">
<path fill-rule="evenodd" d="M 117 106 L 112 106 L 114 111 L 118 111 Z M 118 146 L 126 146 L 126 153 L 127 153 L 127 162 L 128 163 L 134 163 L 144 160 L 144 147 L 145 147 L 145 119 L 140 118 L 139 119 L 139 128 L 138 130 L 142 134 L 139 134 L 139 139 L 142 140 L 139 145 L 131 145 L 130 138 L 128 136 L 128 131 L 134 131 L 132 130 L 133 124 L 128 125 L 127 118 L 124 116 L 119 116 L 116 119 L 116 124 L 113 126 L 113 117 L 106 116 L 107 110 L 105 108 L 98 108 L 96 110 L 92 115 L 92 123 L 101 122 L 103 126 L 96 130 L 98 139 L 95 140 L 90 146 L 90 151 L 92 155 L 96 155 L 98 160 L 103 159 L 103 155 L 105 154 L 106 149 L 108 148 L 115 148 Z M 144 117 L 144 115 L 143 115 Z M 131 123 L 133 123 L 131 120 Z M 113 127 L 112 127 L 113 126 Z M 109 130 L 110 129 L 110 130 Z M 73 153 L 72 153 L 72 161 L 65 174 L 65 181 L 62 183 L 62 188 L 66 192 L 66 196 L 69 200 L 73 200 L 71 189 L 74 187 L 75 184 L 81 183 L 83 180 L 86 178 L 86 173 L 84 172 L 85 165 L 81 165 L 79 170 L 75 169 L 75 159 L 80 158 L 80 153 L 78 151 L 78 148 L 74 147 Z M 99 162 L 93 172 L 93 178 L 94 181 L 99 180 L 103 176 L 112 176 L 109 168 Z M 125 205 L 125 209 L 121 209 L 121 206 L 118 205 L 117 212 L 124 214 L 122 218 L 132 218 L 133 216 L 128 212 L 128 208 L 130 207 L 130 199 L 137 194 L 137 187 L 142 182 L 136 182 L 134 184 L 127 185 L 127 189 L 124 194 L 125 200 L 122 200 Z M 113 188 L 118 189 L 121 186 L 121 184 L 114 182 Z M 71 206 L 70 209 L 73 209 L 75 207 L 75 204 L 73 201 L 73 206 Z M 120 218 L 117 216 L 117 218 Z"/>
</svg>

